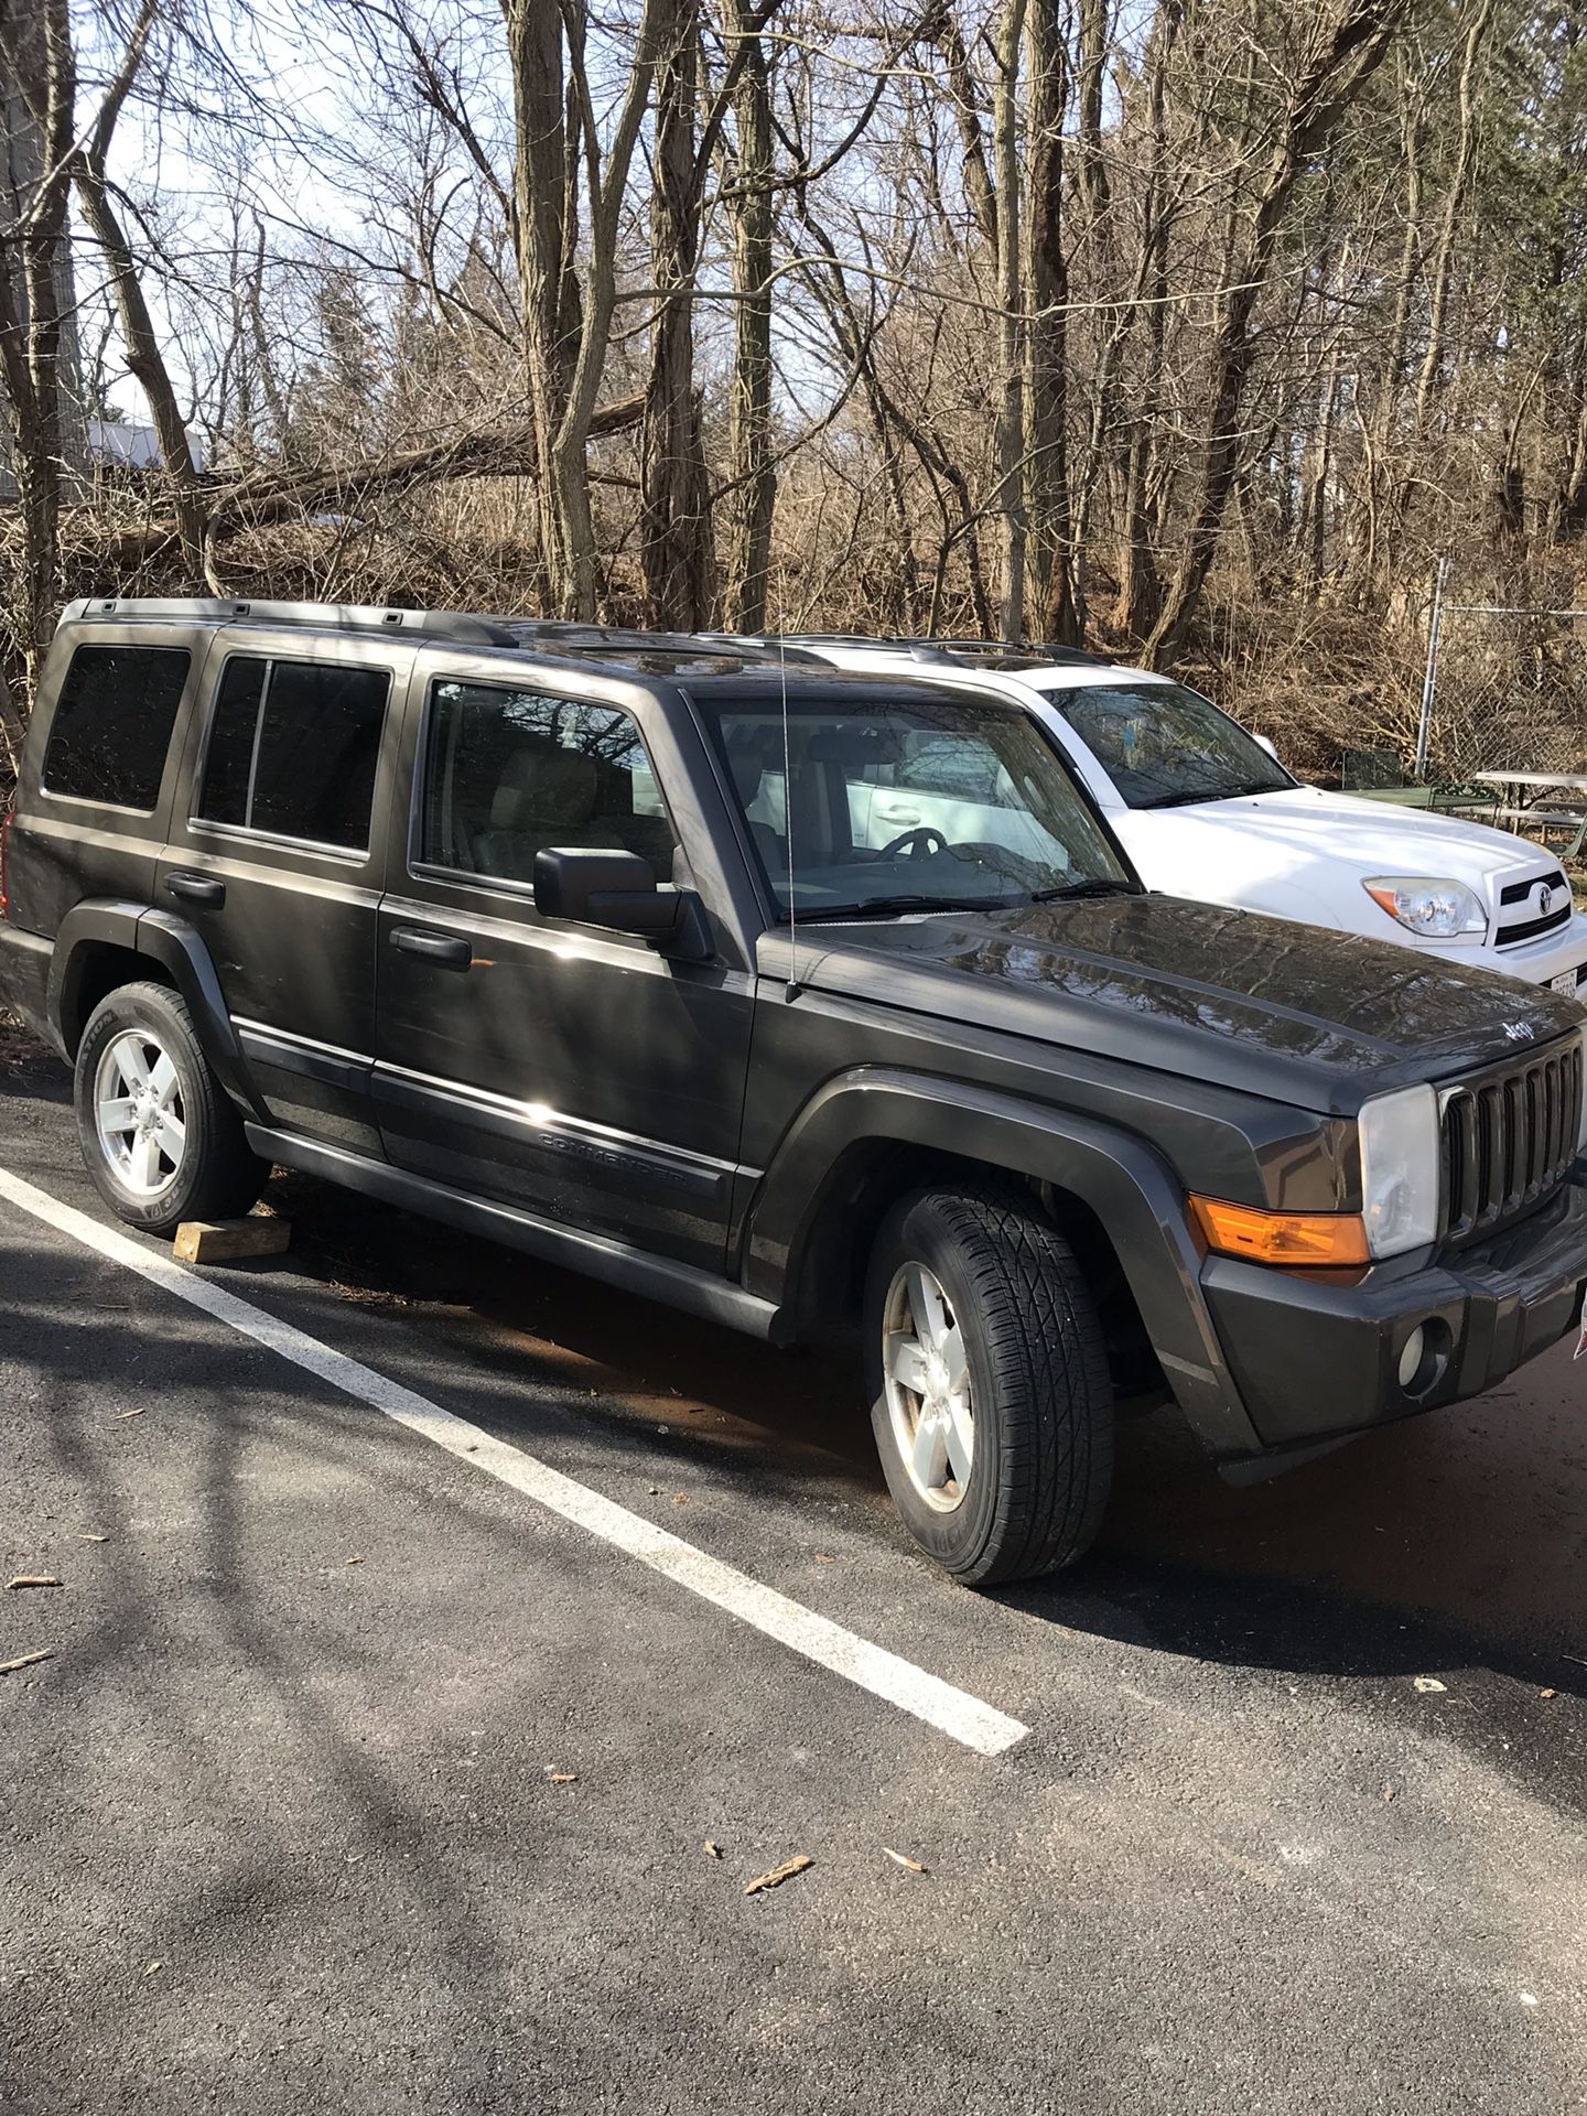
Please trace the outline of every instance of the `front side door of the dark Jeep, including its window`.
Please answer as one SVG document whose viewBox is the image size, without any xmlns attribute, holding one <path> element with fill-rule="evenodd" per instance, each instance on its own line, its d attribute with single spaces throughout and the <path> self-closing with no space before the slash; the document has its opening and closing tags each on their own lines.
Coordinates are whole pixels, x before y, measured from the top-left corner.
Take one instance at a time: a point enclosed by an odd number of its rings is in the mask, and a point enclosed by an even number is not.
<svg viewBox="0 0 1587 2116">
<path fill-rule="evenodd" d="M 542 920 L 535 853 L 677 838 L 639 724 L 535 683 L 436 677 L 406 874 L 379 927 L 375 1102 L 391 1162 L 717 1270 L 751 982 Z"/>
</svg>

